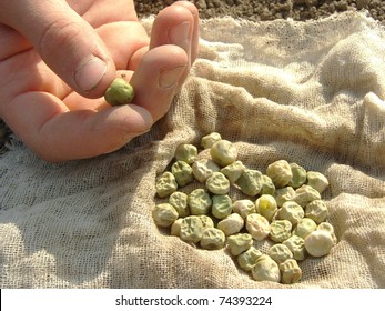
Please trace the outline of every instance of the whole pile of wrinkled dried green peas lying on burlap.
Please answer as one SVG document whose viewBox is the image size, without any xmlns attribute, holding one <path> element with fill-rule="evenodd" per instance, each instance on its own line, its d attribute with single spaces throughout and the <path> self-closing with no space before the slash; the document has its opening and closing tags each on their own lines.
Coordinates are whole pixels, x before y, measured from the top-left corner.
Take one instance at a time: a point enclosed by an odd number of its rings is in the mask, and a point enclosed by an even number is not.
<svg viewBox="0 0 385 311">
<path fill-rule="evenodd" d="M 237 160 L 235 146 L 216 132 L 203 137 L 201 146 L 210 157 L 180 144 L 171 169 L 156 177 L 156 195 L 168 199 L 152 211 L 156 225 L 202 249 L 227 247 L 256 281 L 295 283 L 302 278 L 298 261 L 330 253 L 337 239 L 321 199 L 325 175 L 285 160 L 263 174 Z M 193 181 L 204 185 L 183 192 Z M 231 187 L 245 199 L 232 200 Z M 273 242 L 266 253 L 254 247 L 264 239 Z"/>
</svg>

